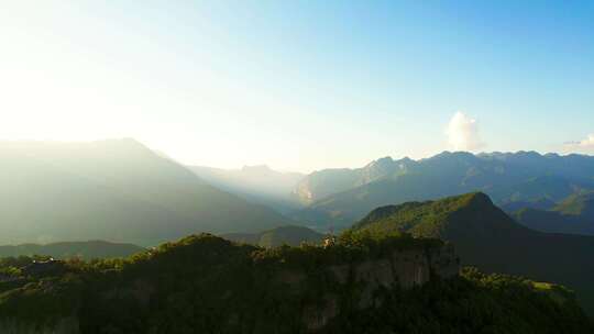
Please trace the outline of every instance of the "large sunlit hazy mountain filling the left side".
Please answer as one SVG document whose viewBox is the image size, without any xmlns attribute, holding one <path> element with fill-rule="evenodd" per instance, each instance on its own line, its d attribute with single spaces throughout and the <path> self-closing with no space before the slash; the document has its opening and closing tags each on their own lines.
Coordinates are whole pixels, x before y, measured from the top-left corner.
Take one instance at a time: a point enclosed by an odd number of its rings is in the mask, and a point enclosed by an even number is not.
<svg viewBox="0 0 594 334">
<path fill-rule="evenodd" d="M 133 140 L 1 142 L 0 244 L 106 240 L 143 246 L 188 233 L 290 224 Z"/>
</svg>

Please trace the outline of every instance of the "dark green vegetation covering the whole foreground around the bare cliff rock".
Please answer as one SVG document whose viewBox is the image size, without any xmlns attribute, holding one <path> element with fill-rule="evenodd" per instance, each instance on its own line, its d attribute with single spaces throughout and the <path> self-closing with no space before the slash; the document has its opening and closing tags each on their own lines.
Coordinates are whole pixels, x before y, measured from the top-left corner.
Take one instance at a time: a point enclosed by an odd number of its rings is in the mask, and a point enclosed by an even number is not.
<svg viewBox="0 0 594 334">
<path fill-rule="evenodd" d="M 199 235 L 128 259 L 69 260 L 59 271 L 24 277 L 30 259 L 4 259 L 2 270 L 21 280 L 0 283 L 0 321 L 48 325 L 76 316 L 81 333 L 305 333 L 311 313 L 326 312 L 333 301 L 338 312 L 319 332 L 593 330 L 571 292 L 517 277 L 466 269 L 410 290 L 378 290 L 381 303 L 361 309 L 361 286 L 328 276 L 330 265 L 441 244 L 400 233 L 349 232 L 328 247 L 260 248 Z"/>
</svg>

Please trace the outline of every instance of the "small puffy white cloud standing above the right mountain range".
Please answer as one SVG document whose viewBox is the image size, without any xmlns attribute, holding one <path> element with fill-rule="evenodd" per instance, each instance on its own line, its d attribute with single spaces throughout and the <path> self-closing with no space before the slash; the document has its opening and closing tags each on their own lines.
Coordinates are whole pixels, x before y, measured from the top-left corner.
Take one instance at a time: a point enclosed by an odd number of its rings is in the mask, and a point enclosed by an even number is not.
<svg viewBox="0 0 594 334">
<path fill-rule="evenodd" d="M 448 129 L 448 144 L 455 151 L 476 151 L 484 146 L 479 135 L 476 120 L 469 118 L 461 111 L 454 113 Z"/>
</svg>

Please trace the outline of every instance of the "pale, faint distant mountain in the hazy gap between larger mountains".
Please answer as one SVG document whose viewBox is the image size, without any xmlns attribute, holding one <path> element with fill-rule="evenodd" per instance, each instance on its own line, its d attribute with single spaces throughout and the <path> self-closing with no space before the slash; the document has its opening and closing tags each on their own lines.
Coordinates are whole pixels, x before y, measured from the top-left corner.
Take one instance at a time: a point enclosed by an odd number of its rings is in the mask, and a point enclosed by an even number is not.
<svg viewBox="0 0 594 334">
<path fill-rule="evenodd" d="M 280 213 L 301 205 L 292 191 L 305 177 L 299 172 L 282 172 L 267 166 L 244 166 L 241 169 L 220 169 L 188 166 L 199 178 L 224 191 L 254 203 L 264 204 Z"/>
</svg>

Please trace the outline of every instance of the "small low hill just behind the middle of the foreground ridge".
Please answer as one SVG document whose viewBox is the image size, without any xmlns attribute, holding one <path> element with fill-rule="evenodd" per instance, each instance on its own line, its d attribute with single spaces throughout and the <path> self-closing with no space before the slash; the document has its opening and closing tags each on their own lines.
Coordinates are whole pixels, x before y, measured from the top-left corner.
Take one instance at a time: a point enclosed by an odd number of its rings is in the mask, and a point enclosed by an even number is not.
<svg viewBox="0 0 594 334">
<path fill-rule="evenodd" d="M 221 237 L 261 247 L 277 247 L 299 246 L 301 243 L 321 244 L 324 235 L 302 226 L 280 226 L 262 233 L 229 233 Z"/>
</svg>

